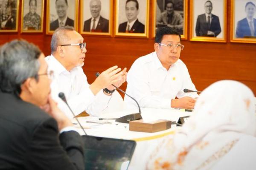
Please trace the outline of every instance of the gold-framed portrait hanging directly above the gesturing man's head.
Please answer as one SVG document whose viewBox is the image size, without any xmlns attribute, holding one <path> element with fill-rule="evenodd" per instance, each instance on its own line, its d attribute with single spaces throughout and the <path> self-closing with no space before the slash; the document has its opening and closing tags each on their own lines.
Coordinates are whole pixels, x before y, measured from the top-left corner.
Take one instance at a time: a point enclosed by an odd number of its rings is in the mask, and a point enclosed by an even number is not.
<svg viewBox="0 0 256 170">
<path fill-rule="evenodd" d="M 60 26 L 73 26 L 78 31 L 78 0 L 47 0 L 46 34 Z"/>
</svg>

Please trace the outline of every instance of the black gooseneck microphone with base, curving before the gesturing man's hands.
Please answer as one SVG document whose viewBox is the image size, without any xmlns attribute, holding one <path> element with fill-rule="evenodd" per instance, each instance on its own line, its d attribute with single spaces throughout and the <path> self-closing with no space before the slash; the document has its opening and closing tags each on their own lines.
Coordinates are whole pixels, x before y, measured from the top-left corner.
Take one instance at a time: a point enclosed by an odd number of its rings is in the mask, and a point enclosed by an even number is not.
<svg viewBox="0 0 256 170">
<path fill-rule="evenodd" d="M 97 72 L 95 75 L 96 75 L 96 77 L 99 77 L 99 72 Z M 112 85 L 113 85 L 113 84 L 112 84 Z M 133 99 L 133 100 L 136 102 L 136 104 L 137 104 L 137 106 L 138 106 L 138 108 L 139 108 L 139 113 L 133 113 L 133 114 L 128 114 L 128 115 L 126 115 L 126 116 L 122 116 L 122 117 L 116 119 L 116 122 L 129 123 L 129 122 L 132 121 L 132 120 L 139 120 L 139 119 L 142 119 L 142 117 L 141 117 L 141 111 L 140 111 L 140 105 L 139 105 L 139 103 L 137 102 L 137 100 L 134 99 L 132 96 L 128 95 L 127 93 L 125 93 L 125 91 L 123 91 L 122 89 L 116 87 L 115 85 L 113 85 L 113 86 L 114 86 L 118 91 L 120 91 L 122 94 L 125 94 L 125 95 L 127 95 L 128 97 L 130 97 L 131 99 Z"/>
</svg>

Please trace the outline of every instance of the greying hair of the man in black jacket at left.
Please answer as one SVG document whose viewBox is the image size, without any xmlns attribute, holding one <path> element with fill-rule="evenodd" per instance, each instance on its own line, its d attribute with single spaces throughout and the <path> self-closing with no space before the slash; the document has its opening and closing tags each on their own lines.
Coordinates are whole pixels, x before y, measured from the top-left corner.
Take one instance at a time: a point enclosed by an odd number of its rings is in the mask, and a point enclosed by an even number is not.
<svg viewBox="0 0 256 170">
<path fill-rule="evenodd" d="M 41 50 L 25 40 L 12 40 L 0 47 L 0 90 L 19 96 L 29 77 L 38 80 Z"/>
</svg>

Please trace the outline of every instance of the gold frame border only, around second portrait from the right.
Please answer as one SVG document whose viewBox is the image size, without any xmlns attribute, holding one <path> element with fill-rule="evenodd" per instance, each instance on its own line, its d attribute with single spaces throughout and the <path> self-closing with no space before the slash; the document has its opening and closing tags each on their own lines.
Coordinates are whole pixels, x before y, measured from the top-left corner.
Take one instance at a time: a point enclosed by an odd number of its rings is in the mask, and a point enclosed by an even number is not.
<svg viewBox="0 0 256 170">
<path fill-rule="evenodd" d="M 190 1 L 189 10 L 190 10 L 190 18 L 189 18 L 189 40 L 190 41 L 202 41 L 202 42 L 227 42 L 227 0 L 223 0 L 223 20 L 224 26 L 221 29 L 223 31 L 223 38 L 216 37 L 197 37 L 193 36 L 193 32 L 195 28 L 194 26 L 194 2 L 195 0 Z"/>
</svg>

